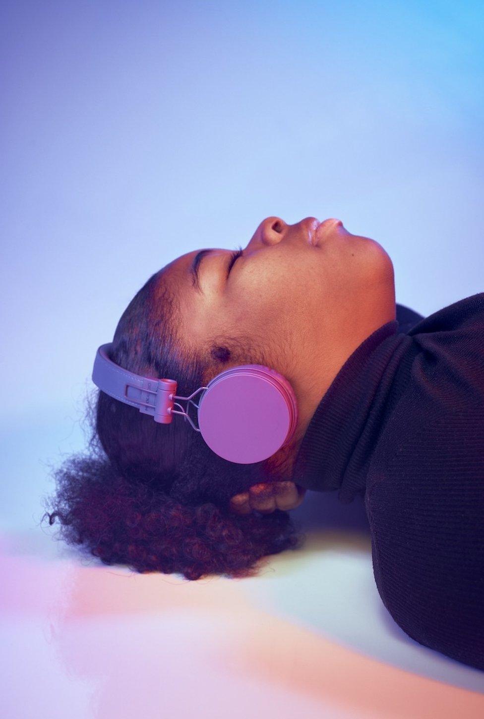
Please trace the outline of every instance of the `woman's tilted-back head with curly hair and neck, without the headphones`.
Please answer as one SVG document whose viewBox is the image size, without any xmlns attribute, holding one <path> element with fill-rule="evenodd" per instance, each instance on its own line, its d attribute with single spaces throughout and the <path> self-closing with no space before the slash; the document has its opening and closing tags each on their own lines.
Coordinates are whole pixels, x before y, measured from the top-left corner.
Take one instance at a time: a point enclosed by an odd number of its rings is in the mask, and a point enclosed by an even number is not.
<svg viewBox="0 0 484 719">
<path fill-rule="evenodd" d="M 299 422 L 291 445 L 265 462 L 218 457 L 181 416 L 153 421 L 99 391 L 88 408 L 91 455 L 55 472 L 50 523 L 106 564 L 137 571 L 249 574 L 259 559 L 297 548 L 286 512 L 236 516 L 229 499 L 287 478 L 303 431 L 353 349 L 395 318 L 393 266 L 373 240 L 337 221 L 288 226 L 268 218 L 232 267 L 231 252 L 196 251 L 152 275 L 122 314 L 111 359 L 140 375 L 173 377 L 189 395 L 239 364 L 273 367 L 293 385 Z M 311 238 L 314 244 L 310 243 Z"/>
</svg>

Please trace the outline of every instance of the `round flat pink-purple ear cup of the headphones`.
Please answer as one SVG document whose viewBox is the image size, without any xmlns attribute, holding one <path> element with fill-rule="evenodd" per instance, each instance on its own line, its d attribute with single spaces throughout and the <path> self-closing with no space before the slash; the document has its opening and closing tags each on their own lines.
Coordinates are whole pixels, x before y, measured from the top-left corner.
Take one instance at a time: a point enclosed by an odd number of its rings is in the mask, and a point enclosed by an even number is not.
<svg viewBox="0 0 484 719">
<path fill-rule="evenodd" d="M 263 365 L 216 375 L 198 403 L 198 429 L 219 457 L 238 464 L 268 459 L 296 431 L 296 395 L 288 380 Z"/>
</svg>

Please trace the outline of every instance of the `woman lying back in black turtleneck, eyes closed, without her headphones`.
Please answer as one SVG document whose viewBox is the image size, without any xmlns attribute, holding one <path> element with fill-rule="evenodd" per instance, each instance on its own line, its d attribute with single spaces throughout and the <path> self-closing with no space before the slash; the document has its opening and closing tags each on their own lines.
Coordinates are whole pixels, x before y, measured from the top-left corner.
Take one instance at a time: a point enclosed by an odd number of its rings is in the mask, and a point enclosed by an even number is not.
<svg viewBox="0 0 484 719">
<path fill-rule="evenodd" d="M 269 217 L 244 250 L 178 257 L 129 303 L 111 359 L 185 396 L 267 365 L 296 394 L 296 432 L 234 464 L 188 422 L 99 392 L 91 454 L 55 473 L 50 523 L 106 564 L 240 577 L 301 546 L 284 510 L 306 489 L 360 494 L 393 618 L 484 669 L 484 293 L 398 319 L 390 257 L 339 220 Z"/>
</svg>

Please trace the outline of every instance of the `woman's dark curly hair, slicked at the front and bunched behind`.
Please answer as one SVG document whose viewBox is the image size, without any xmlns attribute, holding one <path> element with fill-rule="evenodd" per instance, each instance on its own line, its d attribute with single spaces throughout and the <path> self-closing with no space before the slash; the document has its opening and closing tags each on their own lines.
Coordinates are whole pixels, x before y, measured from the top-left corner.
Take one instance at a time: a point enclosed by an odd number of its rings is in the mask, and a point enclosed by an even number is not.
<svg viewBox="0 0 484 719">
<path fill-rule="evenodd" d="M 137 374 L 174 377 L 185 396 L 227 362 L 268 364 L 240 337 L 207 339 L 198 354 L 186 351 L 175 331 L 176 308 L 155 273 L 122 314 L 111 359 Z M 197 580 L 252 576 L 262 557 L 301 546 L 304 535 L 287 512 L 239 516 L 229 508 L 234 494 L 275 479 L 277 464 L 227 462 L 180 416 L 160 424 L 101 390 L 88 395 L 86 418 L 88 453 L 53 470 L 55 493 L 44 498 L 51 511 L 42 516 L 50 525 L 58 519 L 60 539 L 83 554 Z"/>
</svg>

